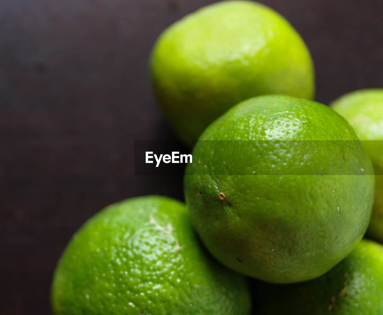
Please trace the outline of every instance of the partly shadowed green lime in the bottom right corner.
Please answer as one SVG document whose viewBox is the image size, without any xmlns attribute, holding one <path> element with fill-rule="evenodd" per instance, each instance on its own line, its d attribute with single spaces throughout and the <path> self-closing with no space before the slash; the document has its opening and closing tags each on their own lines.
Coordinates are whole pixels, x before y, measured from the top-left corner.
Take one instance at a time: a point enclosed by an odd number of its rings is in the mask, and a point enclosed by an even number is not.
<svg viewBox="0 0 383 315">
<path fill-rule="evenodd" d="M 383 313 L 383 246 L 362 240 L 328 273 L 308 282 L 270 286 L 260 315 Z"/>
</svg>

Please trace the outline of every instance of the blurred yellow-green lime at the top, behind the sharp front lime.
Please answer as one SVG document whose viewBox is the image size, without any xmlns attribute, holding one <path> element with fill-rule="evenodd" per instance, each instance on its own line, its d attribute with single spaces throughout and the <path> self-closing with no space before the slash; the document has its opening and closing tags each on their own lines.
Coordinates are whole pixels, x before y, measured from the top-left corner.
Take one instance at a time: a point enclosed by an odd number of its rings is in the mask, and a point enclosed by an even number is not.
<svg viewBox="0 0 383 315">
<path fill-rule="evenodd" d="M 252 1 L 218 2 L 174 23 L 157 40 L 150 70 L 165 116 L 191 142 L 252 96 L 314 95 L 303 40 L 281 15 Z"/>
</svg>

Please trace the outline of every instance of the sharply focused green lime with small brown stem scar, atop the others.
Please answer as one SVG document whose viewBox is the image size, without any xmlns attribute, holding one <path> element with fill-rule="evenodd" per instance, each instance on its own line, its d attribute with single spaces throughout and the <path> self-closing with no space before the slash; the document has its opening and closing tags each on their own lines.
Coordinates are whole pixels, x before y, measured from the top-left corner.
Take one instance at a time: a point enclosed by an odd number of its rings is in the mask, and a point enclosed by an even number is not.
<svg viewBox="0 0 383 315">
<path fill-rule="evenodd" d="M 374 176 L 349 123 L 291 96 L 258 96 L 201 135 L 185 173 L 191 219 L 221 263 L 268 282 L 324 274 L 360 241 Z"/>
</svg>

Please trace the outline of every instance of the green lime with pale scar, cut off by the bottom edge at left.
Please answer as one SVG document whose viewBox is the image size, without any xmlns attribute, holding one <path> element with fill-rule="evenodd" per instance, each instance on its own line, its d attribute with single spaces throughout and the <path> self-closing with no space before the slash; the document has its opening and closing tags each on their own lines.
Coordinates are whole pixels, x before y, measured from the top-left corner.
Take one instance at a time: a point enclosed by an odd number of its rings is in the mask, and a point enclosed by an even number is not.
<svg viewBox="0 0 383 315">
<path fill-rule="evenodd" d="M 246 279 L 201 247 L 185 206 L 146 196 L 106 207 L 74 235 L 52 285 L 56 315 L 248 314 Z"/>
</svg>

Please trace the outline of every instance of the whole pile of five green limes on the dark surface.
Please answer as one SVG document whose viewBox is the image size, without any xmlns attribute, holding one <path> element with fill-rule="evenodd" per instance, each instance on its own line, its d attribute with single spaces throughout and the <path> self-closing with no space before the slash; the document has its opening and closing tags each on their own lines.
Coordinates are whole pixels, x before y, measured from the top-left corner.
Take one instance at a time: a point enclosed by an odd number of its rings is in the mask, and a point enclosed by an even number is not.
<svg viewBox="0 0 383 315">
<path fill-rule="evenodd" d="M 250 1 L 174 23 L 150 65 L 170 125 L 195 143 L 186 204 L 135 197 L 86 222 L 53 312 L 383 314 L 383 246 L 362 240 L 383 242 L 383 89 L 312 101 L 303 40 Z"/>
</svg>

